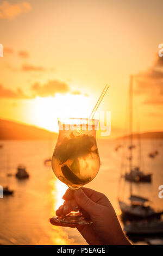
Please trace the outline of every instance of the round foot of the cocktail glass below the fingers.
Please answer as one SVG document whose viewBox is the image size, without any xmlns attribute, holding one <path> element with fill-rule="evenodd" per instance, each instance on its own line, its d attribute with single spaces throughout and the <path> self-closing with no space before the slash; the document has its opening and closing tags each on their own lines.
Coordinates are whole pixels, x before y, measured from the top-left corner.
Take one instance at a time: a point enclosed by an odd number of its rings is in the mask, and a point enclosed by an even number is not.
<svg viewBox="0 0 163 256">
<path fill-rule="evenodd" d="M 92 224 L 92 221 L 85 220 L 83 216 L 60 216 L 60 217 L 53 217 L 55 221 L 65 224 L 73 224 L 73 225 L 85 225 L 85 224 Z"/>
</svg>

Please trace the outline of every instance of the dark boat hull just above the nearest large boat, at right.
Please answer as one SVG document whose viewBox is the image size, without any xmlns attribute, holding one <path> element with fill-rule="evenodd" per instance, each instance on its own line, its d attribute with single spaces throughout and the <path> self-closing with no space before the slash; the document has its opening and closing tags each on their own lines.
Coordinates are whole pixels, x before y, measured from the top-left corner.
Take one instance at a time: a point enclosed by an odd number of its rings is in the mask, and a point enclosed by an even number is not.
<svg viewBox="0 0 163 256">
<path fill-rule="evenodd" d="M 143 173 L 139 167 L 130 170 L 129 173 L 124 174 L 124 179 L 132 182 L 151 182 L 152 174 Z"/>
</svg>

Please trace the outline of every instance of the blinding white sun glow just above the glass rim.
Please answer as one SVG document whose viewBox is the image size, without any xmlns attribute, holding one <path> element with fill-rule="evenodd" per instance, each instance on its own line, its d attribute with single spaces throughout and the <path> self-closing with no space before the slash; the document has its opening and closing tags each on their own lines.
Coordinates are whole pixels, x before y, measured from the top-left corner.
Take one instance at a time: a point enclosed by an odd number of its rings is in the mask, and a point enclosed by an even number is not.
<svg viewBox="0 0 163 256">
<path fill-rule="evenodd" d="M 30 109 L 36 126 L 58 132 L 57 117 L 85 118 L 90 114 L 89 98 L 80 94 L 56 94 L 54 97 L 36 97 Z"/>
</svg>

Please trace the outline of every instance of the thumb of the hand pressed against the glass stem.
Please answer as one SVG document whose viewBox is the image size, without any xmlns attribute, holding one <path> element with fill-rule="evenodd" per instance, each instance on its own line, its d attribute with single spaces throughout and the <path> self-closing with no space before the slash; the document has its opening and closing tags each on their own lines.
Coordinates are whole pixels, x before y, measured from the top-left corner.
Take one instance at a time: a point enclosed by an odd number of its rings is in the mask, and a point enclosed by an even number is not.
<svg viewBox="0 0 163 256">
<path fill-rule="evenodd" d="M 81 188 L 74 193 L 74 198 L 77 204 L 88 214 L 93 215 L 97 212 L 98 204 L 87 197 Z"/>
</svg>

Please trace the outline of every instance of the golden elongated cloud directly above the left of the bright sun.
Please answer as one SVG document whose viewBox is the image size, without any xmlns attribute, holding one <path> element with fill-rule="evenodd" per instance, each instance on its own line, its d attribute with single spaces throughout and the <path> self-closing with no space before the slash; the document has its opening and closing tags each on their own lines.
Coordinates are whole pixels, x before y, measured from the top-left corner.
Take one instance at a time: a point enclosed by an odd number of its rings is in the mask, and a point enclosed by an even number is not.
<svg viewBox="0 0 163 256">
<path fill-rule="evenodd" d="M 58 80 L 49 80 L 42 86 L 40 83 L 34 83 L 31 89 L 34 95 L 41 97 L 54 96 L 56 93 L 67 93 L 70 90 L 66 83 Z"/>
</svg>

